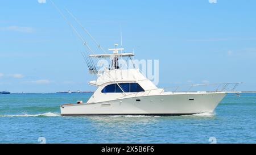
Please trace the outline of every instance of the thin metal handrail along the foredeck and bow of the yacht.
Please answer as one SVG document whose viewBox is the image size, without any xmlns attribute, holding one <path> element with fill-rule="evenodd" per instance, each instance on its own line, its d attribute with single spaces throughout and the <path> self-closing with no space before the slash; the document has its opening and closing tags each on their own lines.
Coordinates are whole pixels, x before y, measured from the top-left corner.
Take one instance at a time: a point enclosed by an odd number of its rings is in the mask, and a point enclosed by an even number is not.
<svg viewBox="0 0 256 155">
<path fill-rule="evenodd" d="M 229 91 L 229 92 L 233 92 L 233 91 L 237 88 L 237 86 L 238 86 L 239 84 L 241 84 L 241 83 L 243 83 L 243 82 L 194 84 L 194 85 L 184 85 L 184 86 L 173 86 L 173 87 L 157 88 L 157 89 L 150 89 L 150 90 L 146 90 L 146 91 L 141 91 L 141 92 L 136 92 L 136 93 L 132 93 L 132 94 L 127 94 L 127 95 L 125 95 L 125 96 L 123 96 L 123 97 L 120 97 L 120 98 L 117 98 L 117 99 L 121 99 L 121 98 L 124 98 L 124 97 L 128 97 L 128 96 L 134 95 L 134 94 L 136 94 L 135 97 L 137 97 L 137 95 L 138 95 L 139 93 L 143 93 L 143 92 L 146 93 L 147 91 L 148 91 L 147 95 L 149 95 L 149 94 L 151 93 L 151 91 L 154 91 L 154 90 L 162 90 L 162 91 L 159 93 L 159 95 L 160 95 L 160 94 L 164 93 L 164 89 L 170 89 L 170 88 L 174 88 L 175 90 L 174 90 L 174 91 L 170 91 L 170 92 L 171 92 L 171 93 L 175 93 L 175 92 L 179 92 L 179 91 L 177 91 L 177 90 L 178 90 L 180 87 L 185 87 L 185 86 L 190 86 L 190 87 L 189 87 L 189 89 L 188 89 L 187 91 L 180 91 L 180 92 L 184 92 L 184 93 L 199 92 L 199 91 L 190 91 L 190 90 L 191 90 L 193 87 L 195 87 L 195 86 L 214 86 L 214 85 L 218 85 L 217 89 L 215 89 L 214 91 L 208 91 L 208 92 L 225 92 L 225 91 L 227 91 L 227 89 L 228 89 L 228 87 L 229 87 L 230 85 L 234 85 L 234 86 L 232 87 L 231 91 Z M 218 89 L 219 89 L 221 86 L 222 86 L 221 91 L 218 91 Z"/>
</svg>

